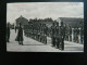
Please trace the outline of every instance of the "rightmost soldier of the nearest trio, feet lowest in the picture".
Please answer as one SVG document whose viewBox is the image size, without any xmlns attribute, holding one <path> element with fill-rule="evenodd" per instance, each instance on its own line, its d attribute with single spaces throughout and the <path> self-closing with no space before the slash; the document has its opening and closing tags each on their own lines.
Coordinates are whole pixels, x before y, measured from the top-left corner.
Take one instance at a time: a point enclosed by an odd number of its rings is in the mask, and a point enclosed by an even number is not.
<svg viewBox="0 0 87 65">
<path fill-rule="evenodd" d="M 61 50 L 64 50 L 65 27 L 63 26 L 63 22 L 61 22 L 59 35 L 61 36 Z"/>
</svg>

